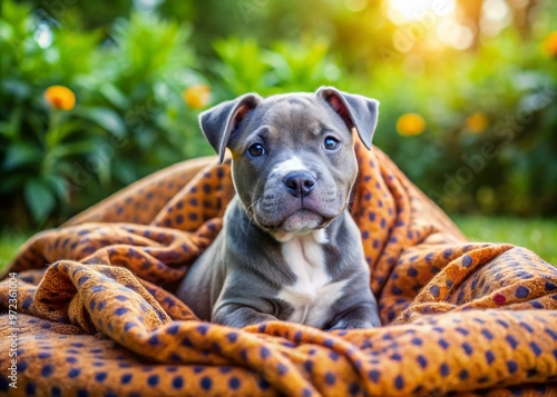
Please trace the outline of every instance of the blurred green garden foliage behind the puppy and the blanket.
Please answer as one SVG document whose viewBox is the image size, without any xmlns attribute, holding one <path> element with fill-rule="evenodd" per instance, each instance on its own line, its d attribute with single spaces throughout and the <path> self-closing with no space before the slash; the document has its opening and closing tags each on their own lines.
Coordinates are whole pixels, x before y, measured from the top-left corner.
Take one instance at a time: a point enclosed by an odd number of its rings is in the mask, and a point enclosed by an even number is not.
<svg viewBox="0 0 557 397">
<path fill-rule="evenodd" d="M 1 3 L 7 221 L 57 222 L 212 153 L 196 120 L 203 106 L 184 101 L 197 85 L 211 89 L 207 106 L 323 85 L 377 98 L 374 143 L 446 210 L 557 215 L 557 62 L 541 44 L 550 3 L 528 34 L 508 27 L 468 51 L 440 44 L 442 16 L 390 21 L 388 0 L 133 3 Z M 74 109 L 45 103 L 53 85 L 75 92 Z M 405 113 L 424 119 L 423 133 L 397 130 Z"/>
</svg>

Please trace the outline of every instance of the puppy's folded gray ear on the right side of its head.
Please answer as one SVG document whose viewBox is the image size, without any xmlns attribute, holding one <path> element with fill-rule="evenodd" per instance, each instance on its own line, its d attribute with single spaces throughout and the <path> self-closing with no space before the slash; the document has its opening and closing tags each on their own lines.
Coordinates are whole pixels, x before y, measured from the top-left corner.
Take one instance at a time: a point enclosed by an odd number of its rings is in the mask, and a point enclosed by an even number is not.
<svg viewBox="0 0 557 397">
<path fill-rule="evenodd" d="M 371 149 L 371 140 L 379 116 L 377 100 L 342 92 L 334 87 L 321 87 L 315 95 L 323 98 L 333 108 L 349 129 L 354 127 L 362 143 Z"/>
</svg>

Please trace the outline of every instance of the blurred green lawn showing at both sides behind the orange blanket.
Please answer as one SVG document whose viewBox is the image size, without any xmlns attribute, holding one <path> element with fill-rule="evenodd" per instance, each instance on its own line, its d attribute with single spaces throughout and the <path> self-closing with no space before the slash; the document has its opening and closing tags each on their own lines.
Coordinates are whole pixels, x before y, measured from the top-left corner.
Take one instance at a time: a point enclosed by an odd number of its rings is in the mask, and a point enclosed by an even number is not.
<svg viewBox="0 0 557 397">
<path fill-rule="evenodd" d="M 557 219 L 518 219 L 482 216 L 453 217 L 470 241 L 510 242 L 526 247 L 557 265 Z M 0 270 L 32 232 L 0 231 Z"/>
</svg>

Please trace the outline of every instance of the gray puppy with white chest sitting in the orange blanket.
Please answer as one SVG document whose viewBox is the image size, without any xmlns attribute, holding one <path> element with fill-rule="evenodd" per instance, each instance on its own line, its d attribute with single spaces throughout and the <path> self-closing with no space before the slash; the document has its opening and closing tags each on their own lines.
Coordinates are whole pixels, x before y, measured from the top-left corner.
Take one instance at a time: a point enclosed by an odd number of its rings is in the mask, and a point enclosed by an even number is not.
<svg viewBox="0 0 557 397">
<path fill-rule="evenodd" d="M 358 173 L 351 129 L 370 149 L 378 106 L 322 87 L 247 93 L 201 115 L 221 162 L 232 151 L 236 196 L 177 292 L 199 318 L 238 328 L 277 319 L 325 329 L 381 325 L 346 209 Z"/>
</svg>

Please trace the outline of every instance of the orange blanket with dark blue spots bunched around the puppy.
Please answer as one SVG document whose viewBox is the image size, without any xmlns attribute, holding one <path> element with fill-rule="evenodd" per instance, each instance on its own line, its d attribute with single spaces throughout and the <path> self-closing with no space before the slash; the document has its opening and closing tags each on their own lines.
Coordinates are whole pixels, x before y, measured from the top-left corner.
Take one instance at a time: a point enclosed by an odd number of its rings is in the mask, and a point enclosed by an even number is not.
<svg viewBox="0 0 557 397">
<path fill-rule="evenodd" d="M 351 212 L 383 327 L 326 333 L 196 319 L 172 291 L 222 228 L 229 162 L 186 161 L 35 236 L 18 279 L 18 383 L 7 316 L 0 393 L 63 396 L 557 394 L 557 270 L 468 242 L 378 149 L 356 143 Z M 7 275 L 4 275 L 7 276 Z M 0 284 L 8 309 L 9 284 Z"/>
</svg>

